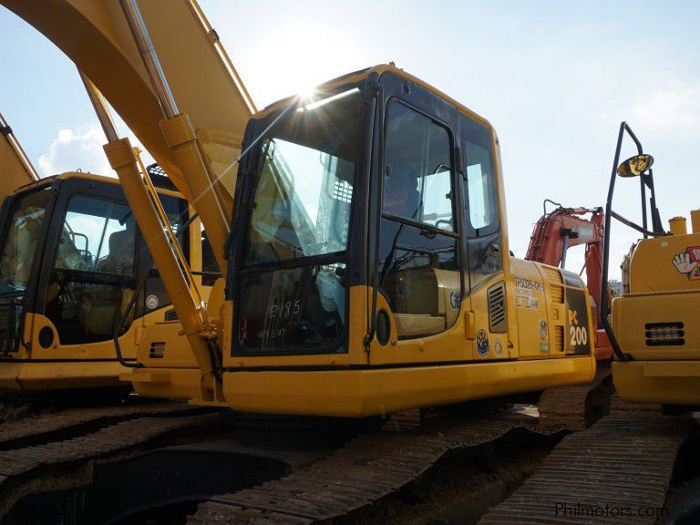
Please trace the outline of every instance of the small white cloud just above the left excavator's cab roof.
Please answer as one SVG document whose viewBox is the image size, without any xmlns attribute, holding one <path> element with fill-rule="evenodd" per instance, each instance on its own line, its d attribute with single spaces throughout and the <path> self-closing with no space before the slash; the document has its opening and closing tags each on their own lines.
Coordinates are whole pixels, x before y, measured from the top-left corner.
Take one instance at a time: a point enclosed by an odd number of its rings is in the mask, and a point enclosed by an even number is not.
<svg viewBox="0 0 700 525">
<path fill-rule="evenodd" d="M 76 170 L 114 176 L 102 149 L 104 144 L 105 135 L 98 126 L 60 129 L 46 153 L 39 157 L 39 170 L 45 177 Z"/>
</svg>

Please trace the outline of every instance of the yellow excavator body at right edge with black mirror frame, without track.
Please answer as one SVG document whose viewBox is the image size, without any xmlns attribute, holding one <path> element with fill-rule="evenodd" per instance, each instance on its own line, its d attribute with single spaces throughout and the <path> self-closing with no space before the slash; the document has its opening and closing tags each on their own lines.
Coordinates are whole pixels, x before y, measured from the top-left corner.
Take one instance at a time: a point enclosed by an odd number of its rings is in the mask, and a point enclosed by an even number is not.
<svg viewBox="0 0 700 525">
<path fill-rule="evenodd" d="M 620 162 L 623 138 L 637 154 Z M 606 209 L 603 290 L 607 289 L 610 223 L 622 221 L 643 235 L 623 262 L 623 294 L 607 302 L 602 318 L 617 360 L 612 377 L 620 396 L 634 402 L 700 406 L 700 211 L 692 211 L 693 231 L 684 217 L 669 221 L 665 232 L 656 207 L 654 158 L 643 152 L 632 129 L 622 123 Z M 618 177 L 640 180 L 643 223 L 612 210 Z M 647 194 L 649 195 L 647 202 Z M 650 209 L 651 224 L 647 207 Z M 610 315 L 610 317 L 609 317 Z"/>
</svg>

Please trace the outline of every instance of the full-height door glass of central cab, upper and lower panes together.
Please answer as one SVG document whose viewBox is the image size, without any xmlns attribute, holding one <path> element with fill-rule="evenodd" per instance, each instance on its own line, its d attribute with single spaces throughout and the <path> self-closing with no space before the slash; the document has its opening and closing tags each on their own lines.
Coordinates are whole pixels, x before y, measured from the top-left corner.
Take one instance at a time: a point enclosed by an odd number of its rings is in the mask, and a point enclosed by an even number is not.
<svg viewBox="0 0 700 525">
<path fill-rule="evenodd" d="M 379 290 L 399 339 L 443 332 L 458 317 L 462 289 L 449 134 L 399 103 L 389 107 L 383 191 Z"/>
</svg>

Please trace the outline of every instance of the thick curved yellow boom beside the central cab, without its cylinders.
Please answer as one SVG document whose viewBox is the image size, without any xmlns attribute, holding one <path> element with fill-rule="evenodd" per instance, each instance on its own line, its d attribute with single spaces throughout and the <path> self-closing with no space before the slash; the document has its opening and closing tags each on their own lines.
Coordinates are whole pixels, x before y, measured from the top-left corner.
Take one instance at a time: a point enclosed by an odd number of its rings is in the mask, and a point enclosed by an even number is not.
<svg viewBox="0 0 700 525">
<path fill-rule="evenodd" d="M 179 145 L 169 145 L 160 129 L 163 109 L 119 2 L 0 0 L 0 4 L 63 50 L 108 99 L 200 212 L 224 270 L 223 244 L 237 172 L 231 168 L 255 108 L 195 0 L 149 0 L 139 7 L 172 95 L 187 113 L 211 171 L 205 181 L 183 169 L 177 159 Z"/>
</svg>

